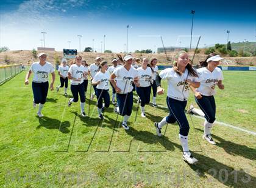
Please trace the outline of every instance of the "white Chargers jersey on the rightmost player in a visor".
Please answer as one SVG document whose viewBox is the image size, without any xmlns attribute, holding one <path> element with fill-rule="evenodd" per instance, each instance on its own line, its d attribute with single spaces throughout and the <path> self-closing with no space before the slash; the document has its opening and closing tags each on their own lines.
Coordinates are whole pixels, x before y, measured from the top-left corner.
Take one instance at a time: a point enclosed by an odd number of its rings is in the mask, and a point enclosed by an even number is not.
<svg viewBox="0 0 256 188">
<path fill-rule="evenodd" d="M 213 72 L 210 72 L 206 67 L 202 67 L 197 69 L 197 72 L 201 77 L 200 87 L 196 89 L 197 92 L 202 93 L 204 96 L 215 95 L 215 86 L 219 80 L 224 79 L 221 69 L 216 67 Z"/>
</svg>

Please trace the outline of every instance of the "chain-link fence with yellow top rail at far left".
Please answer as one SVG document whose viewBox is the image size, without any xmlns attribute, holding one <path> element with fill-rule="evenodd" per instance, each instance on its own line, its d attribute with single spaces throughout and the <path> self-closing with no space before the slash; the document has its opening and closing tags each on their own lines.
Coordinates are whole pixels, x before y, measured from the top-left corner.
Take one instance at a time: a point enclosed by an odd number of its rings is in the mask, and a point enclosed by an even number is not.
<svg viewBox="0 0 256 188">
<path fill-rule="evenodd" d="M 20 73 L 22 70 L 24 70 L 24 67 L 21 64 L 0 66 L 0 84 Z"/>
</svg>

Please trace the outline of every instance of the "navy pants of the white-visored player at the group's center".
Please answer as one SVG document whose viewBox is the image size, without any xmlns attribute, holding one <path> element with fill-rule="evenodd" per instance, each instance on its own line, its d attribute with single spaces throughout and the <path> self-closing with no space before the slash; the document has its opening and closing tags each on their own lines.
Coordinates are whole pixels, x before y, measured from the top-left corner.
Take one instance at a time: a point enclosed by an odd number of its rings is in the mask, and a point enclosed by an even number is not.
<svg viewBox="0 0 256 188">
<path fill-rule="evenodd" d="M 121 116 L 130 116 L 132 114 L 133 92 L 126 94 L 116 93 L 116 98 Z"/>
</svg>

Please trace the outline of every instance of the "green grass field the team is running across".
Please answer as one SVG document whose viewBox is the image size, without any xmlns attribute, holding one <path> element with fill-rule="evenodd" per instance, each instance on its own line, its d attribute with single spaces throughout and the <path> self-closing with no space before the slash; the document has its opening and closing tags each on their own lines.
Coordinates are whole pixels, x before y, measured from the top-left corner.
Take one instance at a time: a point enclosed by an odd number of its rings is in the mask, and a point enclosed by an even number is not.
<svg viewBox="0 0 256 188">
<path fill-rule="evenodd" d="M 146 106 L 147 117 L 141 118 L 139 110 L 135 123 L 134 103 L 125 132 L 113 105 L 101 122 L 94 99 L 90 117 L 83 118 L 80 104 L 67 107 L 60 89 L 49 91 L 44 117 L 38 118 L 25 74 L 0 86 L 0 187 L 255 187 L 255 135 L 215 124 L 213 146 L 202 140 L 204 120 L 188 115 L 190 150 L 199 159 L 188 165 L 177 124 L 164 127 L 162 138 L 155 135 L 154 121 L 168 110 Z M 216 119 L 256 132 L 256 72 L 226 71 L 224 78 Z M 165 96 L 157 103 L 166 106 Z M 192 95 L 188 104 L 196 106 Z"/>
</svg>

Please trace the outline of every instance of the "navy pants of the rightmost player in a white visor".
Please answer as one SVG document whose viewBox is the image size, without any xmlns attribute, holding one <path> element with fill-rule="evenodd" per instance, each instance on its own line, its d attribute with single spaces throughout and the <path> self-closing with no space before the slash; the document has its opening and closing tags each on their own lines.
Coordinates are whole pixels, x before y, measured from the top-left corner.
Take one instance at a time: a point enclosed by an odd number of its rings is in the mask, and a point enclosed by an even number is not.
<svg viewBox="0 0 256 188">
<path fill-rule="evenodd" d="M 202 96 L 201 99 L 196 98 L 196 103 L 204 112 L 204 117 L 208 123 L 213 123 L 215 121 L 216 105 L 214 96 Z"/>
</svg>

